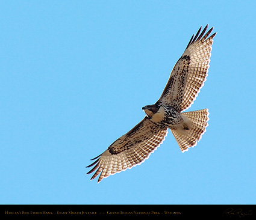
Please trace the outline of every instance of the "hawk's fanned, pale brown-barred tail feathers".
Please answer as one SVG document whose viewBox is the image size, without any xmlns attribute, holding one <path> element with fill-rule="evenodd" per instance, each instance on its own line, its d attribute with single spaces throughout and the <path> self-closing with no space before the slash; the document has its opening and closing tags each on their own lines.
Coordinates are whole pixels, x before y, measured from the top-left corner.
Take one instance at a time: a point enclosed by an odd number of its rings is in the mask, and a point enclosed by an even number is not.
<svg viewBox="0 0 256 220">
<path fill-rule="evenodd" d="M 202 109 L 192 112 L 183 112 L 181 115 L 189 119 L 189 129 L 172 129 L 172 134 L 180 146 L 181 151 L 184 152 L 189 150 L 189 147 L 194 147 L 197 141 L 201 139 L 201 136 L 206 131 L 205 128 L 208 126 L 209 112 L 208 109 Z"/>
</svg>

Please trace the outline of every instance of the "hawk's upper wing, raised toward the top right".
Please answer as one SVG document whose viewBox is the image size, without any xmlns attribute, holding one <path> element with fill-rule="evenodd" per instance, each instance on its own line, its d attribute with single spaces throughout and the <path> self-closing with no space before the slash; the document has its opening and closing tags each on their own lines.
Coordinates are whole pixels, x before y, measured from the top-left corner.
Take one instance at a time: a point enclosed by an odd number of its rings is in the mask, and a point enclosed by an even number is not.
<svg viewBox="0 0 256 220">
<path fill-rule="evenodd" d="M 213 44 L 213 37 L 216 35 L 214 33 L 208 37 L 213 28 L 205 34 L 207 28 L 208 25 L 201 32 L 201 27 L 195 37 L 192 36 L 183 55 L 173 67 L 170 78 L 157 103 L 171 105 L 179 112 L 192 105 L 207 78 L 211 45 Z"/>
</svg>

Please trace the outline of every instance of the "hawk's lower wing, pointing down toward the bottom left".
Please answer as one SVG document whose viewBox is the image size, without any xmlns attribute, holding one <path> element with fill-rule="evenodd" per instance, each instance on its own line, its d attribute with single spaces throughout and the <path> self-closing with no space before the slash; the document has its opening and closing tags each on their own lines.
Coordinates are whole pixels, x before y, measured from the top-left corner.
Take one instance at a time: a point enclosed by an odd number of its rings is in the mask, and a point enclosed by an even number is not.
<svg viewBox="0 0 256 220">
<path fill-rule="evenodd" d="M 139 165 L 159 147 L 166 135 L 166 127 L 150 121 L 146 116 L 128 133 L 114 141 L 104 153 L 95 157 L 97 160 L 88 166 L 95 167 L 87 174 L 96 170 L 92 179 L 100 174 L 99 183 L 103 178 Z"/>
</svg>

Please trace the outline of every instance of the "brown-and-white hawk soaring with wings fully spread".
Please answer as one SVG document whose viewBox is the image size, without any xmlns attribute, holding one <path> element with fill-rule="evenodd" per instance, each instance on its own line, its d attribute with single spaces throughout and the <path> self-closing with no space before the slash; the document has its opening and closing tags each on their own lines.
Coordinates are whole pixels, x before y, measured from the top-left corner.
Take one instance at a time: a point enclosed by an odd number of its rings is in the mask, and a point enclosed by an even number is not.
<svg viewBox="0 0 256 220">
<path fill-rule="evenodd" d="M 183 112 L 189 108 L 208 75 L 211 46 L 216 33 L 208 25 L 192 35 L 183 55 L 170 73 L 160 99 L 154 105 L 146 105 L 145 118 L 128 133 L 118 138 L 88 167 L 92 179 L 99 175 L 98 183 L 120 171 L 132 168 L 148 159 L 164 141 L 170 129 L 182 152 L 194 147 L 208 126 L 208 109 Z M 206 32 L 206 34 L 205 34 Z M 210 37 L 209 37 L 210 36 Z"/>
</svg>

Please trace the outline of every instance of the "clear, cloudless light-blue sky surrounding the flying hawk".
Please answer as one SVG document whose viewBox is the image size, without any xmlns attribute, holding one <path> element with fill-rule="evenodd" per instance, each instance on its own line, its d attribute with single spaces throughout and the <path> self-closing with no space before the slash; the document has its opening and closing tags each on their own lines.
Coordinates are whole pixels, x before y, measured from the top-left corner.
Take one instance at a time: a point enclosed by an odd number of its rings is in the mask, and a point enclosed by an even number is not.
<svg viewBox="0 0 256 220">
<path fill-rule="evenodd" d="M 256 1 L 1 1 L 1 204 L 255 204 Z M 207 132 L 172 133 L 142 165 L 97 183 L 90 159 L 160 97 L 200 26 L 210 70 L 189 109 Z"/>
</svg>

